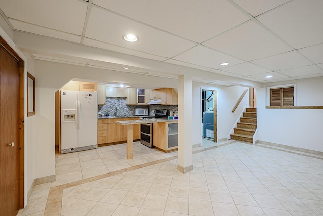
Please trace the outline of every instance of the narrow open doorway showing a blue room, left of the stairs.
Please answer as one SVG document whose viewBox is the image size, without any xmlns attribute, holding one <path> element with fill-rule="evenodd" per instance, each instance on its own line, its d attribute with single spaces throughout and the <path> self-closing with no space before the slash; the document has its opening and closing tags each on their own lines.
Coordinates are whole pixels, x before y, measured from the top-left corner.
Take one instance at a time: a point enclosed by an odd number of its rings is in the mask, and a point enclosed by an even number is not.
<svg viewBox="0 0 323 216">
<path fill-rule="evenodd" d="M 217 91 L 202 90 L 202 138 L 217 142 Z"/>
</svg>

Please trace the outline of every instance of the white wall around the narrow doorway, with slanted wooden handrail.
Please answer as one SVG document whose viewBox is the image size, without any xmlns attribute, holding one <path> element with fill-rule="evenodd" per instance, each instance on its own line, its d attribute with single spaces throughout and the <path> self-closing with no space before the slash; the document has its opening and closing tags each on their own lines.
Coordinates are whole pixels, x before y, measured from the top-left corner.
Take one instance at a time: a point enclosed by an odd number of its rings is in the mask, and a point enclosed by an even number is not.
<svg viewBox="0 0 323 216">
<path fill-rule="evenodd" d="M 193 82 L 193 145 L 202 139 L 202 89 L 217 91 L 217 137 L 227 138 L 237 118 L 245 107 L 249 107 L 249 90 L 234 113 L 232 109 L 247 87 L 223 87 Z"/>
</svg>

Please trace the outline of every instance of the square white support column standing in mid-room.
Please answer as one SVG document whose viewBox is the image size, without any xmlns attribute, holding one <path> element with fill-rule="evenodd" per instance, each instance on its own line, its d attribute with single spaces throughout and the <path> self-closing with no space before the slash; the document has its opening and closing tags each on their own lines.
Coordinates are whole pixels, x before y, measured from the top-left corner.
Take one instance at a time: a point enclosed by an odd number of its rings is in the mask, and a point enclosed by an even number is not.
<svg viewBox="0 0 323 216">
<path fill-rule="evenodd" d="M 183 173 L 193 170 L 192 161 L 192 107 L 193 79 L 189 75 L 178 77 L 178 165 Z"/>
</svg>

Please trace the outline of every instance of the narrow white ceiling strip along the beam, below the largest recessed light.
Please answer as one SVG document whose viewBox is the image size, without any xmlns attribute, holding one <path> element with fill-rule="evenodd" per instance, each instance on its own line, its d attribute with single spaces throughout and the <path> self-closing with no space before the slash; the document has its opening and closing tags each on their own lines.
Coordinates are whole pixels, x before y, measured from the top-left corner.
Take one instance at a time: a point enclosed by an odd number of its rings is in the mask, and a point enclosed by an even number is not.
<svg viewBox="0 0 323 216">
<path fill-rule="evenodd" d="M 115 46 L 112 44 L 106 44 L 104 42 L 93 40 L 93 39 L 86 38 L 86 37 L 83 40 L 83 44 L 91 46 L 91 47 L 98 47 L 98 48 L 111 50 L 111 51 L 115 51 L 115 52 L 119 52 L 119 53 L 124 53 L 124 54 L 132 55 L 132 56 L 139 56 L 139 57 L 146 58 L 146 59 L 153 59 L 153 60 L 158 60 L 158 61 L 164 61 L 167 59 L 167 58 L 161 57 L 161 56 L 155 56 L 152 54 L 143 53 L 143 52 L 131 50 L 128 48 L 123 48 L 123 47 Z"/>
</svg>

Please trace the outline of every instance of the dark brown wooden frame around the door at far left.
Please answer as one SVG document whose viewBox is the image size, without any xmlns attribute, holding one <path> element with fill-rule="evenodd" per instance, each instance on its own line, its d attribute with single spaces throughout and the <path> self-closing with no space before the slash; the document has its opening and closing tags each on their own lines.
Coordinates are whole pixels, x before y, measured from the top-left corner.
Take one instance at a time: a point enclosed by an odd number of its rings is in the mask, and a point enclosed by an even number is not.
<svg viewBox="0 0 323 216">
<path fill-rule="evenodd" d="M 0 36 L 0 46 L 19 61 L 19 208 L 24 207 L 24 61 Z"/>
</svg>

